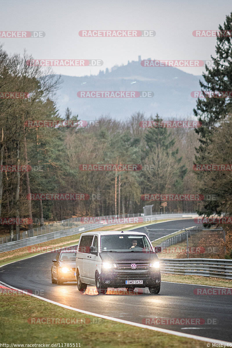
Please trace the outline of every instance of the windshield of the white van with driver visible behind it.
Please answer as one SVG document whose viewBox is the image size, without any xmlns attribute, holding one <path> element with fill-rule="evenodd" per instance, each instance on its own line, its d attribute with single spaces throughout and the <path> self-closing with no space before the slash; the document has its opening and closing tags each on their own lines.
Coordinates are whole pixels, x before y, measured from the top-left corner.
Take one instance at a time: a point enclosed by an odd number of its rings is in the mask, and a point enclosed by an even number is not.
<svg viewBox="0 0 232 348">
<path fill-rule="evenodd" d="M 101 236 L 102 252 L 144 252 L 152 251 L 146 236 L 107 235 Z"/>
</svg>

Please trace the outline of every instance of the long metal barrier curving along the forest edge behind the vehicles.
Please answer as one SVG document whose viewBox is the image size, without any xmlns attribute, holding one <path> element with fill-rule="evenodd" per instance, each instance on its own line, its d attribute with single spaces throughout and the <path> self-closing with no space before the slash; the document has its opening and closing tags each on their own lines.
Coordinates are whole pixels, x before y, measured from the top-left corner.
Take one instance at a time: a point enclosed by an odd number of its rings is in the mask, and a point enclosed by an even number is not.
<svg viewBox="0 0 232 348">
<path fill-rule="evenodd" d="M 132 214 L 131 214 L 132 215 Z M 136 214 L 134 214 L 136 215 Z M 180 219 L 180 218 L 186 218 L 186 217 L 197 217 L 197 214 L 193 214 L 193 213 L 180 213 L 180 214 L 156 214 L 156 215 L 149 215 L 149 216 L 141 216 L 143 219 L 143 222 L 145 223 L 149 223 L 149 222 L 155 222 L 155 221 L 159 221 L 159 220 L 163 220 L 163 219 Z M 112 215 L 113 217 L 113 215 Z M 132 217 L 132 216 L 131 216 Z M 110 223 L 110 224 L 103 224 L 103 223 L 92 223 L 92 224 L 81 224 L 78 227 L 75 228 L 71 228 L 71 229 L 66 229 L 66 230 L 60 230 L 60 231 L 55 231 L 55 232 L 50 232 L 50 233 L 46 233 L 46 234 L 42 234 L 42 235 L 35 235 L 33 237 L 25 237 L 26 234 L 24 233 L 24 239 L 20 239 L 20 240 L 15 240 L 14 242 L 8 242 L 8 243 L 3 243 L 0 244 L 0 253 L 1 252 L 5 252 L 5 251 L 10 251 L 10 250 L 15 250 L 18 248 L 22 248 L 24 246 L 30 246 L 30 245 L 34 245 L 34 244 L 38 244 L 38 243 L 42 243 L 42 242 L 47 242 L 48 240 L 52 240 L 52 239 L 57 239 L 57 238 L 61 238 L 61 237 L 67 237 L 67 236 L 71 236 L 71 235 L 75 235 L 81 232 L 87 232 L 89 230 L 92 229 L 97 229 L 100 228 L 102 226 L 112 226 L 114 224 Z M 36 229 L 35 230 L 35 234 L 36 234 Z M 34 233 L 34 232 L 33 232 Z"/>
</svg>

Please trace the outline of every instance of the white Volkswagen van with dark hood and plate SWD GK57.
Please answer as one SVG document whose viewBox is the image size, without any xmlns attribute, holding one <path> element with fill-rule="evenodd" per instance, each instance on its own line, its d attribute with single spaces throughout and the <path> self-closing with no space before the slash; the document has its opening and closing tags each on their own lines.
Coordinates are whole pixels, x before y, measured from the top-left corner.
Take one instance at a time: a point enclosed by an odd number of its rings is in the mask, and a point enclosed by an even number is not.
<svg viewBox="0 0 232 348">
<path fill-rule="evenodd" d="M 107 287 L 148 287 L 151 294 L 160 291 L 160 266 L 145 233 L 136 231 L 86 232 L 80 236 L 76 255 L 76 279 L 79 291 L 96 285 L 99 294 Z"/>
</svg>

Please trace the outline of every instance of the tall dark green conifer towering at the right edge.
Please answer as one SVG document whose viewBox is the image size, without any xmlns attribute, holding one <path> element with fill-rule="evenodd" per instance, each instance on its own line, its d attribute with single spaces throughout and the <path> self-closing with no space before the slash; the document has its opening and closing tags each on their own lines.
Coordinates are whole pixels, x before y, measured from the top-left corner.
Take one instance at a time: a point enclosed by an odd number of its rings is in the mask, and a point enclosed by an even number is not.
<svg viewBox="0 0 232 348">
<path fill-rule="evenodd" d="M 219 25 L 220 34 L 217 36 L 216 44 L 216 56 L 211 56 L 214 67 L 208 68 L 206 66 L 206 73 L 203 74 L 205 82 L 200 82 L 202 91 L 205 92 L 218 92 L 221 97 L 206 96 L 206 98 L 198 98 L 197 107 L 194 109 L 195 116 L 202 122 L 202 126 L 195 129 L 196 133 L 200 136 L 200 146 L 196 149 L 197 155 L 195 156 L 194 164 L 226 164 L 230 163 L 230 154 L 228 158 L 221 158 L 220 156 L 212 156 L 212 146 L 217 147 L 215 143 L 217 137 L 214 134 L 218 133 L 218 128 L 221 128 L 223 121 L 227 119 L 227 122 L 231 122 L 231 118 L 228 119 L 232 110 L 232 12 L 226 16 L 225 22 Z M 224 93 L 223 93 L 224 92 Z M 228 94 L 225 94 L 228 92 Z M 210 161 L 210 162 L 209 162 Z M 217 161 L 217 162 L 216 162 Z M 212 193 L 212 186 L 206 187 L 205 183 L 217 187 L 218 199 L 206 202 L 203 209 L 199 209 L 199 214 L 206 214 L 209 216 L 214 212 L 221 212 L 222 207 L 225 209 L 225 205 L 222 205 L 223 197 L 227 196 L 226 190 L 229 188 L 223 188 L 219 194 L 218 187 L 221 187 L 218 180 L 221 180 L 223 175 L 211 175 L 214 173 L 196 172 L 199 180 L 200 193 L 207 194 Z M 209 180 L 211 176 L 211 182 Z M 222 187 L 221 187 L 222 188 Z M 226 200 L 226 199 L 225 199 Z"/>
</svg>

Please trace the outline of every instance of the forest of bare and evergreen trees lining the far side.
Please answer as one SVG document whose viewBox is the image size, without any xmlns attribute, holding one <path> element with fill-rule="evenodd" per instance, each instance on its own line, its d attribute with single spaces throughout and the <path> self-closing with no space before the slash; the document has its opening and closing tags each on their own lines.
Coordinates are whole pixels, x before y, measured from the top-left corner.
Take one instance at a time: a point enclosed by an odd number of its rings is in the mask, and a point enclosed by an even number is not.
<svg viewBox="0 0 232 348">
<path fill-rule="evenodd" d="M 232 15 L 224 28 L 231 30 Z M 214 68 L 206 68 L 204 91 L 232 90 L 231 37 L 218 37 Z M 143 128 L 136 112 L 123 121 L 100 116 L 86 127 L 29 127 L 27 121 L 78 121 L 69 108 L 56 109 L 54 95 L 61 81 L 49 70 L 28 66 L 25 53 L 9 56 L 0 47 L 0 217 L 63 220 L 153 212 L 231 214 L 231 172 L 196 172 L 193 164 L 231 164 L 231 97 L 198 99 L 195 116 L 202 126 Z M 6 92 L 29 93 L 7 98 Z M 162 121 L 158 114 L 150 120 Z M 175 118 L 178 120 L 178 117 Z M 186 117 L 186 120 L 188 118 Z M 82 171 L 83 164 L 137 164 L 139 171 Z M 31 171 L 7 171 L 6 166 L 31 166 Z M 4 169 L 5 168 L 5 169 Z M 203 201 L 144 201 L 144 194 L 202 194 Z M 37 194 L 86 194 L 86 200 L 28 199 Z M 35 197 L 34 196 L 34 197 Z M 38 196 L 40 197 L 40 196 Z M 210 199 L 214 197 L 214 199 Z M 32 221 L 26 229 L 35 226 Z M 11 234 L 21 226 L 1 227 Z M 14 231 L 16 229 L 16 231 Z"/>
</svg>

